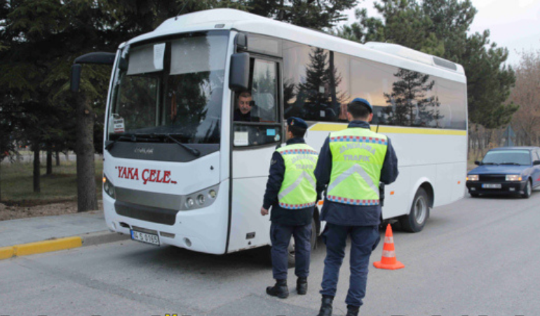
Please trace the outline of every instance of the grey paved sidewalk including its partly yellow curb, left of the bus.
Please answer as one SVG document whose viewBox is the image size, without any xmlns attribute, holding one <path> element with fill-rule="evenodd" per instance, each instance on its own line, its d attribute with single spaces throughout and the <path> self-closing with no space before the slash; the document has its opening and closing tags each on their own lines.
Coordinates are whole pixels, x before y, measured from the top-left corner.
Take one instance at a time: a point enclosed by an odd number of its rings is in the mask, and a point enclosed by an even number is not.
<svg viewBox="0 0 540 316">
<path fill-rule="evenodd" d="M 0 260 L 128 238 L 108 230 L 103 211 L 3 220 Z"/>
</svg>

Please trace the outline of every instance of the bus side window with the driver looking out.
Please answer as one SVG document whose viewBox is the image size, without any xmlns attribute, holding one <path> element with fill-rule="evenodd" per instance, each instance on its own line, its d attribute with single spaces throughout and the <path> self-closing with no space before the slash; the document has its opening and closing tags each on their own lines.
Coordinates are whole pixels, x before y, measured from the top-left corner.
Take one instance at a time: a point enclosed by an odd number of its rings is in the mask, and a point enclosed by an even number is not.
<svg viewBox="0 0 540 316">
<path fill-rule="evenodd" d="M 266 145 L 281 140 L 278 119 L 278 62 L 252 59 L 250 91 L 236 93 L 234 105 L 234 145 Z"/>
</svg>

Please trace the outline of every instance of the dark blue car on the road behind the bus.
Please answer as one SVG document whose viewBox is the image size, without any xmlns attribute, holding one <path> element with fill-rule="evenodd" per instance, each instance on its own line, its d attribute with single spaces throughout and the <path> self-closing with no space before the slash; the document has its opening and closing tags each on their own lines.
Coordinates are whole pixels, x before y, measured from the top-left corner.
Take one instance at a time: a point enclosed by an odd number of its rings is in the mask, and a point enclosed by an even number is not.
<svg viewBox="0 0 540 316">
<path fill-rule="evenodd" d="M 540 185 L 540 147 L 500 147 L 485 154 L 469 171 L 467 189 L 478 195 L 520 195 L 528 198 Z"/>
</svg>

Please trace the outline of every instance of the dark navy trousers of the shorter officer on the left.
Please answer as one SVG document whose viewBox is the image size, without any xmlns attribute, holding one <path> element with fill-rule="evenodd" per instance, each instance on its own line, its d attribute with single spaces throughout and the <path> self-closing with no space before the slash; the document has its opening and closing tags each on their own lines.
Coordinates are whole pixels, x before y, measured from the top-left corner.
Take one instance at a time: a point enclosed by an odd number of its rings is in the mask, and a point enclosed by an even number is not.
<svg viewBox="0 0 540 316">
<path fill-rule="evenodd" d="M 270 239 L 272 242 L 271 256 L 274 279 L 287 279 L 288 246 L 291 236 L 295 238 L 295 275 L 297 277 L 308 277 L 309 275 L 311 224 L 292 226 L 272 222 Z"/>
</svg>

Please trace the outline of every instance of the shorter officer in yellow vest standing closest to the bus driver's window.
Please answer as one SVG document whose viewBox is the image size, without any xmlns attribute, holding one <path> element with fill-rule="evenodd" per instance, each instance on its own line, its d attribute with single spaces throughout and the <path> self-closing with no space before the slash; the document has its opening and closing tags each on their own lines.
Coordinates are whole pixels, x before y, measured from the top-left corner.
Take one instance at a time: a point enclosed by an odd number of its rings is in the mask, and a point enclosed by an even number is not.
<svg viewBox="0 0 540 316">
<path fill-rule="evenodd" d="M 270 176 L 266 183 L 262 216 L 272 212 L 270 239 L 272 242 L 272 272 L 276 285 L 267 287 L 266 294 L 287 298 L 288 246 L 291 235 L 295 237 L 295 275 L 297 293 L 306 294 L 311 251 L 311 218 L 316 203 L 316 180 L 313 171 L 317 152 L 306 145 L 304 134 L 307 124 L 303 119 L 287 120 L 287 145 L 274 152 Z"/>
</svg>

